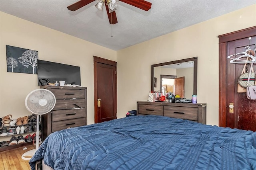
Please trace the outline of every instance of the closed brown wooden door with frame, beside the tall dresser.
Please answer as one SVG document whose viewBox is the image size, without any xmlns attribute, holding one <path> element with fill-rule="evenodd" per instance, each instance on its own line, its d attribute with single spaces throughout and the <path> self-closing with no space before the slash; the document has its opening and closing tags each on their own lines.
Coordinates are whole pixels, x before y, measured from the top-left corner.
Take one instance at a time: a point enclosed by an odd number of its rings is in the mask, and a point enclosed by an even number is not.
<svg viewBox="0 0 256 170">
<path fill-rule="evenodd" d="M 116 119 L 116 62 L 94 56 L 94 122 Z"/>
</svg>

